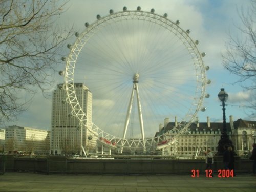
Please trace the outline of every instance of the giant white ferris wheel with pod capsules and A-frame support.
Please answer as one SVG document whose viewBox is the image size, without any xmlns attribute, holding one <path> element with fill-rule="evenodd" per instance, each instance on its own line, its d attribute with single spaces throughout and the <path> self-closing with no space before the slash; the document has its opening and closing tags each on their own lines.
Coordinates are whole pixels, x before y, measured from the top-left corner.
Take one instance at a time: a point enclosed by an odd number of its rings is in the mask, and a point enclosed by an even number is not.
<svg viewBox="0 0 256 192">
<path fill-rule="evenodd" d="M 76 32 L 63 71 L 72 114 L 92 135 L 110 148 L 152 151 L 166 117 L 178 117 L 176 137 L 187 131 L 197 113 L 205 111 L 206 70 L 190 30 L 179 20 L 154 9 L 127 10 L 96 16 Z M 93 95 L 92 124 L 78 102 L 74 83 L 82 82 Z M 172 140 L 175 138 L 172 138 Z"/>
</svg>

